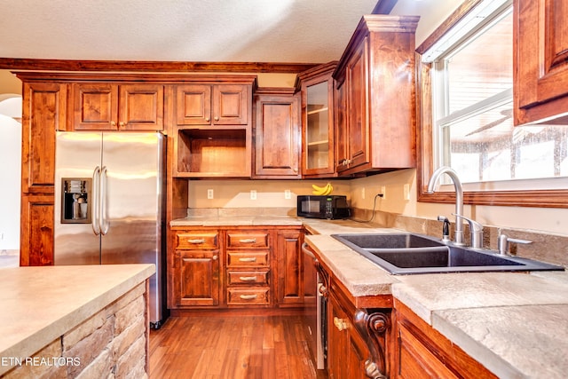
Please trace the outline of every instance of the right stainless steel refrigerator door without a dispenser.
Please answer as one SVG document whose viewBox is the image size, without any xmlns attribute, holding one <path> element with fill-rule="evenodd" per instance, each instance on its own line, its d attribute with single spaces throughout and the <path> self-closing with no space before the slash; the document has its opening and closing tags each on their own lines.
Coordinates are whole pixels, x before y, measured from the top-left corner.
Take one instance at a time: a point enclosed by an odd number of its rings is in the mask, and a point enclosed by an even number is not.
<svg viewBox="0 0 568 379">
<path fill-rule="evenodd" d="M 101 171 L 102 264 L 147 263 L 150 318 L 162 305 L 164 137 L 160 133 L 104 133 Z"/>
</svg>

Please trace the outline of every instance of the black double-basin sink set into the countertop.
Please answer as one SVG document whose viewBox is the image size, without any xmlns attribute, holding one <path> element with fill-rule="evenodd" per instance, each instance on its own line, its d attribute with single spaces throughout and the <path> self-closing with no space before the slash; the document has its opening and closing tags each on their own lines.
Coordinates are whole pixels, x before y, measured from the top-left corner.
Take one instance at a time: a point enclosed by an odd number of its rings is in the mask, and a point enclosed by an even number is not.
<svg viewBox="0 0 568 379">
<path fill-rule="evenodd" d="M 469 249 L 414 233 L 332 234 L 395 275 L 434 272 L 562 271 L 564 267 Z"/>
</svg>

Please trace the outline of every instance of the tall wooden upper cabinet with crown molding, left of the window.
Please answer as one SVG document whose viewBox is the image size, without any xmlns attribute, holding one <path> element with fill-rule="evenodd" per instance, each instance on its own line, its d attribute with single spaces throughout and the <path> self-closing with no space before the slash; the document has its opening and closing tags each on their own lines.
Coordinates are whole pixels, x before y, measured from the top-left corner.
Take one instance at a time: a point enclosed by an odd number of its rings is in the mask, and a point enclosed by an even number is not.
<svg viewBox="0 0 568 379">
<path fill-rule="evenodd" d="M 341 117 L 335 123 L 339 145 L 335 159 L 341 175 L 415 166 L 414 32 L 418 20 L 415 16 L 363 16 L 343 52 L 333 74 L 340 107 L 337 117 Z"/>
</svg>

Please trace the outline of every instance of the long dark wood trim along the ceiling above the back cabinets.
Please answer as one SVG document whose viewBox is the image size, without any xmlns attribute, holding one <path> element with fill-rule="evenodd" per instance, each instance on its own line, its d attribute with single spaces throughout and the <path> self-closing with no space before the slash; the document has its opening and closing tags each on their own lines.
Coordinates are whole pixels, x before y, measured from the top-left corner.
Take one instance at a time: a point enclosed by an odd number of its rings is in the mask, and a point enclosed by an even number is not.
<svg viewBox="0 0 568 379">
<path fill-rule="evenodd" d="M 184 62 L 0 58 L 0 69 L 30 71 L 243 72 L 296 74 L 319 63 Z"/>
</svg>

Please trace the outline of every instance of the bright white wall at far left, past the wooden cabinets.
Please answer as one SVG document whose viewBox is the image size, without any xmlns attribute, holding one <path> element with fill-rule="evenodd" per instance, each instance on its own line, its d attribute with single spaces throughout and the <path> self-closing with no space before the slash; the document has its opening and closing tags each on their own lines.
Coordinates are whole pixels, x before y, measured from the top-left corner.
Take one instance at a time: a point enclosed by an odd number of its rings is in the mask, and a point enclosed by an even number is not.
<svg viewBox="0 0 568 379">
<path fill-rule="evenodd" d="M 21 124 L 0 114 L 0 250 L 20 249 Z"/>
</svg>

